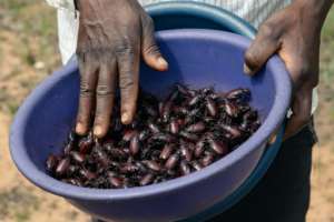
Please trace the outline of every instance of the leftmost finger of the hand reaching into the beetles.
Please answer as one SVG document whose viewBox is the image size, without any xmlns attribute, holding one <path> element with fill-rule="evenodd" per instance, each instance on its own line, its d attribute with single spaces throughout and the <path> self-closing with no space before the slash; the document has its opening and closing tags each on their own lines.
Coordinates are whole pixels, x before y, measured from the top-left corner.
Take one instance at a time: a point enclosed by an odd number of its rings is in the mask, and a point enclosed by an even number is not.
<svg viewBox="0 0 334 222">
<path fill-rule="evenodd" d="M 84 135 L 90 127 L 91 110 L 95 102 L 95 88 L 97 83 L 97 61 L 79 57 L 80 70 L 80 98 L 77 115 L 76 132 Z"/>
</svg>

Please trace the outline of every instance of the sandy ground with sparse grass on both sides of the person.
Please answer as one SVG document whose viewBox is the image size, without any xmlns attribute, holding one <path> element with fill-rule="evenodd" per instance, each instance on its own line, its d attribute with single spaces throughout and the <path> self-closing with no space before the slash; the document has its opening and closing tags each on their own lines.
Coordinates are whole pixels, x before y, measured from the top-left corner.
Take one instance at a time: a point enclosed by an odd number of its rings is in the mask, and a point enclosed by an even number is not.
<svg viewBox="0 0 334 222">
<path fill-rule="evenodd" d="M 86 222 L 89 216 L 29 183 L 9 157 L 8 133 L 19 104 L 60 65 L 56 13 L 41 0 L 0 3 L 0 222 Z M 315 115 L 312 200 L 307 222 L 334 222 L 334 10 L 323 31 L 321 101 Z"/>
</svg>

